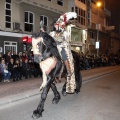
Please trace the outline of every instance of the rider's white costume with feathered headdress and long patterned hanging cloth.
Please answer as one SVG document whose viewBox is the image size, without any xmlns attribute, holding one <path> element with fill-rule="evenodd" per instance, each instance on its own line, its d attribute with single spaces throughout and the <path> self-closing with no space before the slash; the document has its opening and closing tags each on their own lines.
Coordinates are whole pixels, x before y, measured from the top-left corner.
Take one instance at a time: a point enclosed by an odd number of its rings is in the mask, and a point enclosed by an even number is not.
<svg viewBox="0 0 120 120">
<path fill-rule="evenodd" d="M 62 47 L 64 47 L 67 58 L 70 64 L 71 69 L 71 77 L 67 77 L 67 84 L 66 84 L 66 92 L 67 93 L 74 93 L 74 90 L 76 88 L 76 82 L 75 82 L 75 75 L 74 75 L 74 62 L 73 62 L 73 56 L 71 53 L 71 45 L 69 43 L 69 36 L 68 32 L 65 30 L 66 24 L 69 22 L 71 18 L 76 18 L 77 14 L 75 12 L 67 12 L 60 16 L 60 18 L 56 21 L 56 25 L 59 26 L 59 29 L 61 30 L 60 35 L 58 37 L 55 36 L 56 32 L 53 31 L 50 33 L 50 35 L 60 44 L 57 45 L 58 51 L 61 54 Z"/>
</svg>

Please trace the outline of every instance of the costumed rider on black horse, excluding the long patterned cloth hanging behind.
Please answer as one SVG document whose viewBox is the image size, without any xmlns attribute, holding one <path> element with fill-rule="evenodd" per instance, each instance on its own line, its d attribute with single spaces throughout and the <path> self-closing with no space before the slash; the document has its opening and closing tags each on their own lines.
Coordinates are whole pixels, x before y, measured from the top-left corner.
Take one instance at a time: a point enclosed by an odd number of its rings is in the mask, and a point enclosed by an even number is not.
<svg viewBox="0 0 120 120">
<path fill-rule="evenodd" d="M 69 53 L 71 53 L 71 51 L 66 50 L 66 46 L 70 46 L 69 43 L 67 43 L 68 33 L 66 32 L 66 27 L 69 24 L 70 19 L 76 17 L 77 14 L 75 12 L 66 12 L 65 14 L 61 15 L 59 19 L 53 24 L 54 31 L 50 33 L 50 35 L 55 39 L 57 43 L 57 48 L 59 53 L 61 54 L 62 60 L 65 63 L 68 77 L 71 76 L 71 67 L 66 51 Z M 70 56 L 72 57 L 72 55 Z"/>
</svg>

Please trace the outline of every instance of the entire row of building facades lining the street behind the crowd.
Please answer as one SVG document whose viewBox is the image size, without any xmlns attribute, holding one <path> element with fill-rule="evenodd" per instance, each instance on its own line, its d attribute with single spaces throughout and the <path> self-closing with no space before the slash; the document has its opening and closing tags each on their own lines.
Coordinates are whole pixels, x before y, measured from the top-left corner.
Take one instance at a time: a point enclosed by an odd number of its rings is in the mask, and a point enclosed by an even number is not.
<svg viewBox="0 0 120 120">
<path fill-rule="evenodd" d="M 69 26 L 72 49 L 81 53 L 104 54 L 117 52 L 120 40 L 110 24 L 111 12 L 104 0 L 1 0 L 0 1 L 0 52 L 29 50 L 22 39 L 39 31 L 43 21 L 49 33 L 51 24 L 61 14 L 74 11 L 77 19 Z M 96 49 L 96 42 L 99 49 Z"/>
</svg>

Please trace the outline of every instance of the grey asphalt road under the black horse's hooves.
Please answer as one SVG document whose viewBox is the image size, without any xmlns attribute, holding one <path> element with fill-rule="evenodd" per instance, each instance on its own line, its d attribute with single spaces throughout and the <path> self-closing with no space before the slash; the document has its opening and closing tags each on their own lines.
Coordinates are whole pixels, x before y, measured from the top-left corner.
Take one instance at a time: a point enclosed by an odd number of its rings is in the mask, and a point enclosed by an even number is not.
<svg viewBox="0 0 120 120">
<path fill-rule="evenodd" d="M 62 83 L 57 84 L 61 92 Z M 81 92 L 52 104 L 49 92 L 43 117 L 38 120 L 120 120 L 120 71 L 83 81 Z M 32 120 L 40 95 L 13 102 L 0 109 L 0 120 Z"/>
</svg>

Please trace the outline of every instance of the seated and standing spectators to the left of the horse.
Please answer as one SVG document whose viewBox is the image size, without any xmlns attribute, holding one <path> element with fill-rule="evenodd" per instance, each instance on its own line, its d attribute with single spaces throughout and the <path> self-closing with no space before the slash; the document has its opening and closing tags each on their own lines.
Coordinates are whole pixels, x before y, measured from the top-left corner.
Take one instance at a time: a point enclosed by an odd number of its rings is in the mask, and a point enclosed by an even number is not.
<svg viewBox="0 0 120 120">
<path fill-rule="evenodd" d="M 0 81 L 10 82 L 41 76 L 42 72 L 39 64 L 34 62 L 32 53 L 20 52 L 17 54 L 7 51 L 0 54 Z"/>
</svg>

